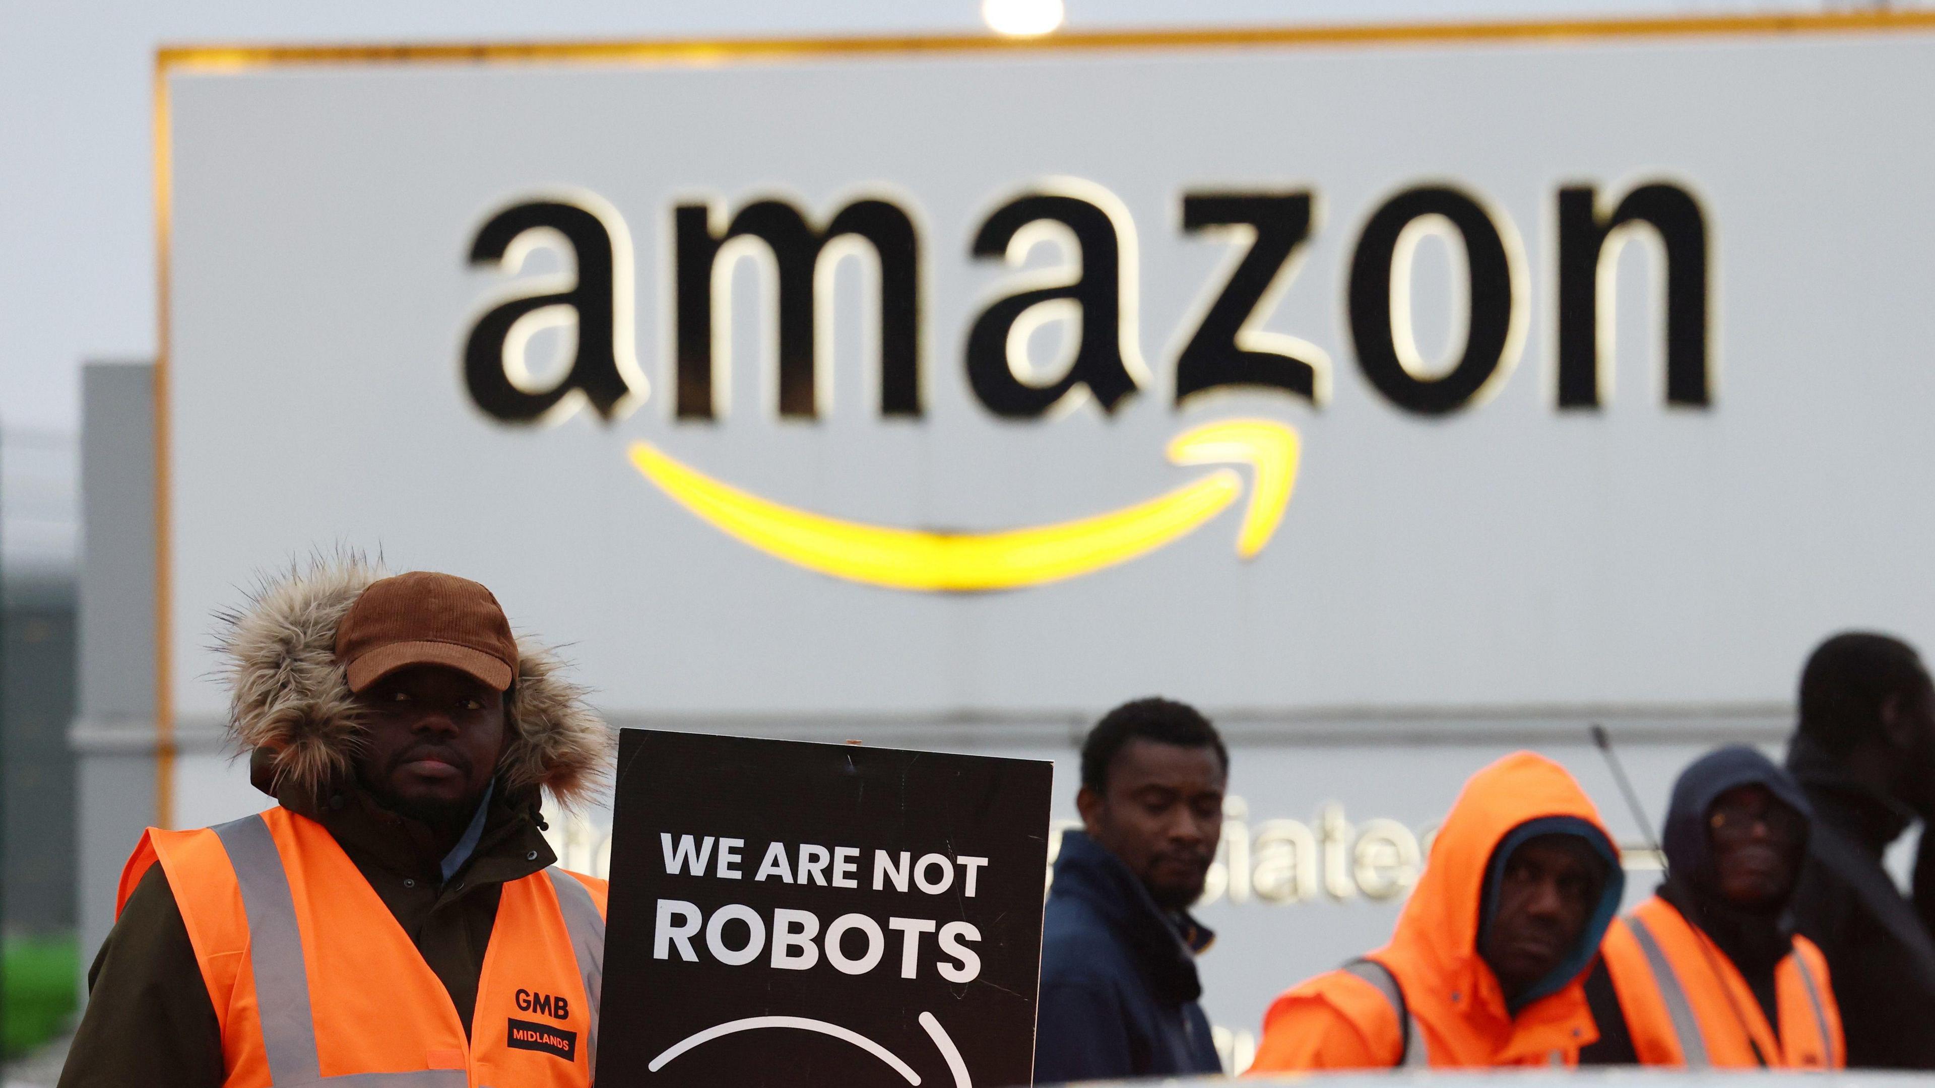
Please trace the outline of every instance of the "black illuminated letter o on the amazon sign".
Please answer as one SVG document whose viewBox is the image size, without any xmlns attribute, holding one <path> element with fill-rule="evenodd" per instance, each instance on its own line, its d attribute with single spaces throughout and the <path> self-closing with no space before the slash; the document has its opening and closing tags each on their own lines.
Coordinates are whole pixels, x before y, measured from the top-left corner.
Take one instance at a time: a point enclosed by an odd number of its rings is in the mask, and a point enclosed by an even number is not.
<svg viewBox="0 0 1935 1088">
<path fill-rule="evenodd" d="M 1457 364 L 1430 376 L 1411 333 L 1411 257 L 1444 225 L 1465 242 L 1471 310 Z M 1509 374 L 1525 337 L 1521 263 L 1511 221 L 1459 190 L 1422 186 L 1387 199 L 1351 257 L 1351 339 L 1364 378 L 1399 408 L 1426 416 L 1480 401 Z"/>
</svg>

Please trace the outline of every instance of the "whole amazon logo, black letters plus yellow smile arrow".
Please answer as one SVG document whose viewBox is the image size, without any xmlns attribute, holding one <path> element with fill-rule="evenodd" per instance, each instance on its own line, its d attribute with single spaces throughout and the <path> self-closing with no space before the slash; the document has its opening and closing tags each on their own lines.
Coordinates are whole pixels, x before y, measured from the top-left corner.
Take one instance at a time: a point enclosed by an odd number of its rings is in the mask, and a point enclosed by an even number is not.
<svg viewBox="0 0 1935 1088">
<path fill-rule="evenodd" d="M 1221 389 L 1265 391 L 1322 410 L 1333 362 L 1318 345 L 1264 331 L 1295 288 L 1304 248 L 1318 230 L 1314 190 L 1192 190 L 1180 196 L 1188 236 L 1236 248 L 1219 283 L 1204 288 L 1194 325 L 1176 337 L 1175 407 Z M 1664 252 L 1664 399 L 1672 407 L 1712 403 L 1711 261 L 1707 213 L 1685 186 L 1652 180 L 1622 194 L 1569 184 L 1554 194 L 1554 407 L 1596 410 L 1612 395 L 1610 314 L 1616 254 L 1637 230 Z M 1449 366 L 1422 358 L 1413 333 L 1411 279 L 1418 242 L 1455 234 L 1465 259 L 1463 347 Z M 960 364 L 973 399 L 991 416 L 1049 422 L 1084 401 L 1116 412 L 1153 385 L 1140 348 L 1140 257 L 1136 225 L 1103 186 L 1051 178 L 989 211 L 968 242 L 975 261 L 1022 269 L 968 323 Z M 1024 269 L 1041 244 L 1058 244 L 1064 265 Z M 706 426 L 720 418 L 729 325 L 729 271 L 747 248 L 762 250 L 776 273 L 776 410 L 820 418 L 828 401 L 822 358 L 830 292 L 828 265 L 859 250 L 877 261 L 877 410 L 921 420 L 931 345 L 923 327 L 925 252 L 915 217 L 888 197 L 861 197 L 815 221 L 786 199 L 755 199 L 728 213 L 716 201 L 677 203 L 670 215 L 670 290 L 664 325 L 671 345 L 671 418 Z M 484 300 L 462 347 L 470 401 L 495 422 L 534 426 L 590 410 L 604 422 L 633 412 L 650 395 L 637 358 L 631 230 L 606 199 L 588 192 L 532 194 L 490 213 L 470 242 L 470 265 L 521 273 L 542 248 L 567 257 L 571 273 L 519 277 Z M 1457 184 L 1420 184 L 1384 199 L 1358 228 L 1347 256 L 1345 335 L 1354 362 L 1393 408 L 1449 416 L 1482 405 L 1519 360 L 1531 314 L 1531 285 L 1511 219 Z M 1029 358 L 1029 337 L 1060 321 L 1070 350 L 1055 368 Z M 555 378 L 528 360 L 532 339 L 573 329 Z M 1264 418 L 1198 426 L 1173 438 L 1176 465 L 1248 465 L 1252 472 L 1236 538 L 1258 556 L 1295 488 L 1300 439 Z M 826 575 L 904 590 L 995 590 L 1097 571 L 1196 530 L 1242 496 L 1242 476 L 1219 468 L 1130 507 L 1074 521 L 995 532 L 937 532 L 865 525 L 791 507 L 739 490 L 675 461 L 646 441 L 631 463 L 685 509 L 766 554 Z"/>
</svg>

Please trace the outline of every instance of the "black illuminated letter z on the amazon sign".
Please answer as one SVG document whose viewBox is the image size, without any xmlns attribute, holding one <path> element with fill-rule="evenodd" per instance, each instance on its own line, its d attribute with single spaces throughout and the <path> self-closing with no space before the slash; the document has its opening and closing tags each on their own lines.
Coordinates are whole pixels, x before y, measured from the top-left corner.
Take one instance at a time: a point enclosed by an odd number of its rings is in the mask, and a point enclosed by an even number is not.
<svg viewBox="0 0 1935 1088">
<path fill-rule="evenodd" d="M 1310 194 L 1184 194 L 1182 228 L 1229 234 L 1244 252 L 1176 356 L 1176 405 L 1225 385 L 1287 389 L 1322 405 L 1329 393 L 1324 348 L 1252 327 L 1296 277 L 1293 257 L 1310 238 Z"/>
</svg>

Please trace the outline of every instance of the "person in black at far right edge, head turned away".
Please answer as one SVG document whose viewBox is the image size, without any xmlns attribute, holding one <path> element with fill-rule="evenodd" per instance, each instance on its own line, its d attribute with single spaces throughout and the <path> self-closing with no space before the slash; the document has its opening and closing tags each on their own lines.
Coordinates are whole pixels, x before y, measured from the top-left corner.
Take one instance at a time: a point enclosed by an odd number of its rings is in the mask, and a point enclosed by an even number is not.
<svg viewBox="0 0 1935 1088">
<path fill-rule="evenodd" d="M 1861 631 L 1821 643 L 1788 771 L 1815 811 L 1794 920 L 1834 972 L 1848 1065 L 1935 1069 L 1935 685 L 1916 650 Z M 1918 819 L 1908 898 L 1881 858 Z"/>
</svg>

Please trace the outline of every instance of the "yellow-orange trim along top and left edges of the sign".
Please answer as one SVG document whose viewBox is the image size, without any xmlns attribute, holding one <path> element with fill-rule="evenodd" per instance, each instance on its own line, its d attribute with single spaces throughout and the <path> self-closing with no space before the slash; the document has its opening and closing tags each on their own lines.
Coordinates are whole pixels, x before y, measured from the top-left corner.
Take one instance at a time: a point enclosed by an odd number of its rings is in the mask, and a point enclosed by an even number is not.
<svg viewBox="0 0 1935 1088">
<path fill-rule="evenodd" d="M 432 43 L 432 45 L 188 45 L 155 52 L 155 821 L 174 819 L 174 705 L 170 678 L 170 507 L 168 507 L 168 225 L 170 118 L 168 76 L 221 74 L 323 64 L 687 64 L 786 62 L 834 58 L 908 58 L 968 52 L 1130 52 L 1159 48 L 1349 48 L 1511 43 L 1591 43 L 1604 39 L 1697 39 L 1767 35 L 1854 35 L 1935 31 L 1935 12 L 1823 12 L 1805 15 L 1720 15 L 1656 19 L 1581 19 L 1515 23 L 1356 23 L 1327 27 L 1151 29 L 1057 33 L 1041 39 L 997 35 L 718 39 L 718 41 L 582 41 L 582 43 Z M 1256 498 L 1252 496 L 1252 515 Z M 1248 530 L 1248 523 L 1246 523 Z"/>
</svg>

